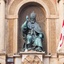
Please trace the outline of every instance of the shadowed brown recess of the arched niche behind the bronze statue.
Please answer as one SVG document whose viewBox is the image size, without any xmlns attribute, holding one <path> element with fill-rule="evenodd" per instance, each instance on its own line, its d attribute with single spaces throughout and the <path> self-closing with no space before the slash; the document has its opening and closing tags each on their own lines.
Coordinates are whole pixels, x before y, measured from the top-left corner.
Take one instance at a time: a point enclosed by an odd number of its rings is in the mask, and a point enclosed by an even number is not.
<svg viewBox="0 0 64 64">
<path fill-rule="evenodd" d="M 30 2 L 24 4 L 18 12 L 18 51 L 21 50 L 24 40 L 21 34 L 21 25 L 26 20 L 26 15 L 30 17 L 31 12 L 36 13 L 36 21 L 40 25 L 42 32 L 44 34 L 44 41 L 43 41 L 43 50 L 47 52 L 47 35 L 46 35 L 46 11 L 45 9 L 38 3 Z"/>
</svg>

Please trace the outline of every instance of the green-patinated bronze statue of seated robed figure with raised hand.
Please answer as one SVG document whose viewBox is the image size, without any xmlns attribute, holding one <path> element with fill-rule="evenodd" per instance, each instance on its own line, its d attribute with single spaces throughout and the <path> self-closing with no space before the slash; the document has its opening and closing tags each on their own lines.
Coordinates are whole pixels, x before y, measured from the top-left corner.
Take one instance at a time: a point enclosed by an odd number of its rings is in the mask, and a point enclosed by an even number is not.
<svg viewBox="0 0 64 64">
<path fill-rule="evenodd" d="M 30 14 L 30 19 L 26 16 L 26 21 L 22 24 L 21 30 L 25 40 L 23 45 L 24 51 L 26 49 L 39 52 L 43 51 L 42 41 L 44 35 L 36 22 L 36 14 L 34 12 Z"/>
</svg>

